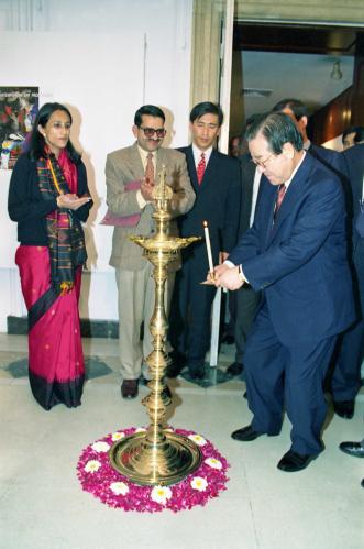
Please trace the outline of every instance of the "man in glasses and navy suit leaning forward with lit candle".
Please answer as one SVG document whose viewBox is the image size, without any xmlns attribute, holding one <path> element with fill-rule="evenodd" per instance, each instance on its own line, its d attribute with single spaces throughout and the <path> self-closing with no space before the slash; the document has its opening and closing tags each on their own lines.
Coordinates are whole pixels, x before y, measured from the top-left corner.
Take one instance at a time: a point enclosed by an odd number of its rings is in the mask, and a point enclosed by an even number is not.
<svg viewBox="0 0 364 549">
<path fill-rule="evenodd" d="M 262 116 L 246 139 L 264 174 L 260 201 L 253 227 L 214 270 L 218 286 L 263 290 L 244 354 L 254 417 L 232 437 L 278 435 L 285 407 L 291 447 L 278 469 L 295 472 L 322 451 L 322 383 L 338 333 L 354 320 L 344 196 L 334 173 L 302 150 L 288 116 Z"/>
</svg>

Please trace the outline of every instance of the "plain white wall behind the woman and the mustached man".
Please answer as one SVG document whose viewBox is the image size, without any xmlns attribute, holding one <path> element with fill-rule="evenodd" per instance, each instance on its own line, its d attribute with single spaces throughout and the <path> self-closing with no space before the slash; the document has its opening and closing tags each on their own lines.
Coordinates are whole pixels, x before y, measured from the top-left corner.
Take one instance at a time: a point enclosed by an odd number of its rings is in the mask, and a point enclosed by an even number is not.
<svg viewBox="0 0 364 549">
<path fill-rule="evenodd" d="M 104 160 L 133 142 L 133 116 L 143 103 L 165 110 L 168 146 L 187 143 L 192 0 L 0 0 L 0 86 L 38 86 L 40 105 L 60 101 L 74 116 L 71 140 L 84 151 L 96 201 L 86 228 L 91 272 L 81 316 L 115 319 L 112 229 L 98 224 L 106 212 Z M 0 331 L 8 315 L 25 314 L 22 299 L 11 297 L 19 281 L 15 224 L 7 213 L 10 175 L 0 171 Z"/>
</svg>

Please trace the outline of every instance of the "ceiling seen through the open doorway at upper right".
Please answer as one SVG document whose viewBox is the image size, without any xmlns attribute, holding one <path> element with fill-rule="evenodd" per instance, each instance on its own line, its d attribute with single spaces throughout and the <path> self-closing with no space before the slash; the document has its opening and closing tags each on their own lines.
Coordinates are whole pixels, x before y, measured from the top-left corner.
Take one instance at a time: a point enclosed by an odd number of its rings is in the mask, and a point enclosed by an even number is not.
<svg viewBox="0 0 364 549">
<path fill-rule="evenodd" d="M 242 56 L 245 120 L 287 97 L 300 99 L 313 112 L 340 95 L 353 83 L 362 34 L 352 28 L 235 22 L 233 44 Z M 334 61 L 340 61 L 341 79 L 330 76 Z"/>
</svg>

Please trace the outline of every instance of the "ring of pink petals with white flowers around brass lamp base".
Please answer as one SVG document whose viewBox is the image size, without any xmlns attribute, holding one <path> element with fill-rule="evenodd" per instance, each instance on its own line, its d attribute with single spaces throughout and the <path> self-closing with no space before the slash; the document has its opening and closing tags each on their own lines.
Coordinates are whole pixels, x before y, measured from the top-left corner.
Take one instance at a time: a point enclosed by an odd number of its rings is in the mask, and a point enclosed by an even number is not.
<svg viewBox="0 0 364 549">
<path fill-rule="evenodd" d="M 172 486 L 140 486 L 131 482 L 112 469 L 108 451 L 117 440 L 141 431 L 145 431 L 145 428 L 122 429 L 85 448 L 77 464 L 77 476 L 85 492 L 90 492 L 110 507 L 124 510 L 155 513 L 170 509 L 177 513 L 195 505 L 206 505 L 209 499 L 227 490 L 227 471 L 230 466 L 227 460 L 211 442 L 184 429 L 175 429 L 175 432 L 188 437 L 199 446 L 202 453 L 200 466 Z"/>
</svg>

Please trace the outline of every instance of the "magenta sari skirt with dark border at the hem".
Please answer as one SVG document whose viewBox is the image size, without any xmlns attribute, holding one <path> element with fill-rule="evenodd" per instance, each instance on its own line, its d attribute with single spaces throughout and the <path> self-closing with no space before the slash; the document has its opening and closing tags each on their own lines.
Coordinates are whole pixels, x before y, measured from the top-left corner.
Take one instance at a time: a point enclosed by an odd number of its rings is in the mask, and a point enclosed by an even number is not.
<svg viewBox="0 0 364 549">
<path fill-rule="evenodd" d="M 81 267 L 74 288 L 58 295 L 51 283 L 47 246 L 20 245 L 15 263 L 29 315 L 29 378 L 34 398 L 46 410 L 59 403 L 79 406 L 85 381 L 78 314 Z"/>
</svg>

